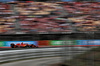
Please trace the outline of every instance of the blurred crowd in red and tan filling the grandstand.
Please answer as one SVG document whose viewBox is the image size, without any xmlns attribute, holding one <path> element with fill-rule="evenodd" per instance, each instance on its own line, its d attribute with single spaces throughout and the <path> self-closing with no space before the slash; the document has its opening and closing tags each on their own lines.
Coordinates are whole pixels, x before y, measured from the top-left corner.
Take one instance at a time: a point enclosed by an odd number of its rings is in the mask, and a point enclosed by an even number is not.
<svg viewBox="0 0 100 66">
<path fill-rule="evenodd" d="M 100 2 L 1 2 L 0 33 L 99 31 L 99 11 Z"/>
</svg>

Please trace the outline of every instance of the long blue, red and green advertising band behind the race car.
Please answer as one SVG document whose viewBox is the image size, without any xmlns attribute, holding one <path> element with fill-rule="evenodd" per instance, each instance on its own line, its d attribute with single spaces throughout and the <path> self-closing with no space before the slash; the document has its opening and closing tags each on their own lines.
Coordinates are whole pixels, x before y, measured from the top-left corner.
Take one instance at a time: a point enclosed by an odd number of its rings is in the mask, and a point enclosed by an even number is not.
<svg viewBox="0 0 100 66">
<path fill-rule="evenodd" d="M 100 46 L 100 40 L 41 40 L 41 41 L 0 41 L 0 48 L 10 48 L 14 44 L 34 44 L 38 47 Z"/>
</svg>

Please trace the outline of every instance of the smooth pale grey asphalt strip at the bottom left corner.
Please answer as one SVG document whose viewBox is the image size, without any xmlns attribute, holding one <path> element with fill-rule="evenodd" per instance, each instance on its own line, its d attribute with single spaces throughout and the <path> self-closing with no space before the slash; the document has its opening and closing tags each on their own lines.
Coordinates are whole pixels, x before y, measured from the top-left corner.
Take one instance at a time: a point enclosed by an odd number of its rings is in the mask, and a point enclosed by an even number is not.
<svg viewBox="0 0 100 66">
<path fill-rule="evenodd" d="M 61 57 L 49 57 L 6 63 L 1 64 L 0 66 L 49 66 L 50 64 L 60 62 Z"/>
</svg>

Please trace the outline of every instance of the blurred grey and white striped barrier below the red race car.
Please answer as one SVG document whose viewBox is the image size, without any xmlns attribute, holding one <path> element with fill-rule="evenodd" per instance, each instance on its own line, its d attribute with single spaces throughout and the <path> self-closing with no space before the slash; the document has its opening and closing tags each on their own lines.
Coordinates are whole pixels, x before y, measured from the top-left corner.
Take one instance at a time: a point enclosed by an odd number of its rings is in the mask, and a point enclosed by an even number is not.
<svg viewBox="0 0 100 66">
<path fill-rule="evenodd" d="M 86 50 L 74 50 L 67 51 L 69 53 L 81 54 Z M 53 56 L 62 56 L 62 48 L 39 48 L 39 49 L 24 49 L 24 50 L 9 50 L 9 51 L 0 51 L 0 63 L 7 61 L 15 61 L 21 59 L 29 58 L 40 58 L 40 57 L 53 57 Z"/>
</svg>

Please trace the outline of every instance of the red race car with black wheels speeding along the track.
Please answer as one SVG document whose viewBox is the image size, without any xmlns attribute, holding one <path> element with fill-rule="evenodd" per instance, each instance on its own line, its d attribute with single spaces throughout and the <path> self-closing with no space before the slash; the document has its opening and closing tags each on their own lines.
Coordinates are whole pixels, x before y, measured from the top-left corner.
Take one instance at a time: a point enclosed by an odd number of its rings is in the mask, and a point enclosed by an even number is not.
<svg viewBox="0 0 100 66">
<path fill-rule="evenodd" d="M 38 46 L 22 42 L 18 44 L 11 43 L 11 48 L 38 48 Z"/>
</svg>

